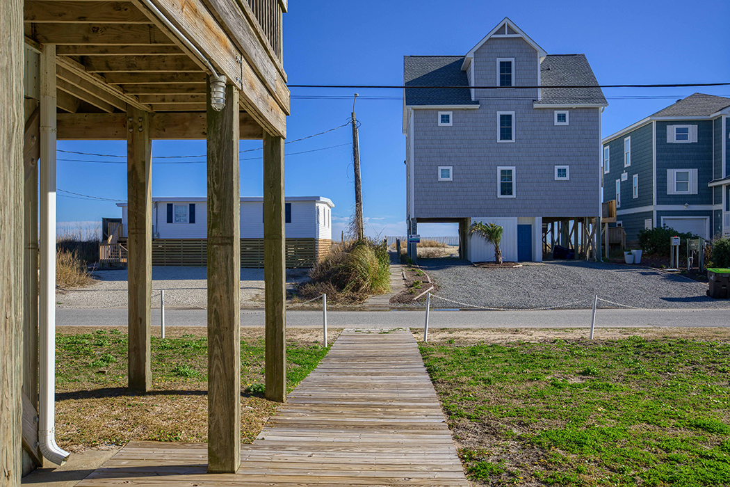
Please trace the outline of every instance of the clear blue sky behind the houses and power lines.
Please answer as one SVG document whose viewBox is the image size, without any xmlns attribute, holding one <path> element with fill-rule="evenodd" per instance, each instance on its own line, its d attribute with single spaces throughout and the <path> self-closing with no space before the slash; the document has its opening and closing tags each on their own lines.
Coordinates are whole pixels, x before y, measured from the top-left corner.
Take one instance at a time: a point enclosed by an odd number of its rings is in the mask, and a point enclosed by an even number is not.
<svg viewBox="0 0 730 487">
<path fill-rule="evenodd" d="M 284 65 L 290 84 L 401 85 L 403 55 L 464 55 L 505 16 L 549 54 L 585 53 L 601 84 L 730 81 L 730 2 L 716 1 L 291 1 L 284 15 Z M 676 99 L 721 88 L 604 90 L 607 136 Z M 399 90 L 292 88 L 288 139 L 342 125 L 358 92 L 364 215 L 370 235 L 405 233 L 405 142 Z M 310 97 L 317 98 L 312 99 Z M 326 98 L 321 98 L 326 96 Z M 615 99 L 666 96 L 666 99 Z M 288 196 L 331 199 L 339 235 L 353 212 L 351 131 L 337 129 L 286 146 Z M 344 144 L 344 145 L 343 145 Z M 261 147 L 242 141 L 241 150 Z M 86 153 L 126 153 L 125 142 L 58 142 Z M 204 141 L 155 141 L 153 156 L 205 153 Z M 262 196 L 261 152 L 241 154 L 241 195 Z M 59 159 L 102 158 L 58 153 Z M 253 160 L 245 160 L 253 158 Z M 103 158 L 113 161 L 112 158 Z M 123 159 L 116 159 L 123 161 Z M 126 199 L 124 164 L 58 161 L 58 188 Z M 205 196 L 204 164 L 153 164 L 153 196 Z M 58 221 L 100 222 L 121 215 L 113 202 L 58 197 Z M 456 234 L 452 225 L 420 225 L 420 234 Z"/>
</svg>

